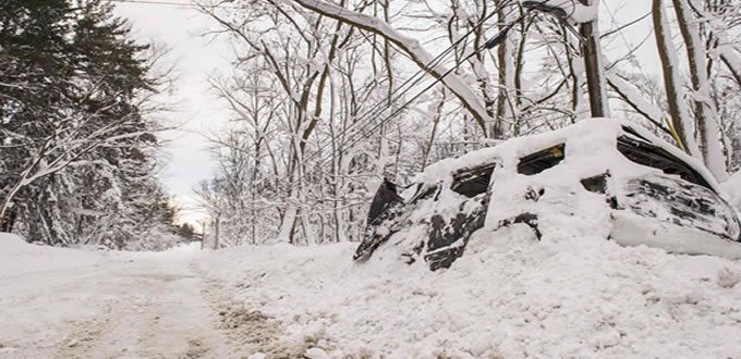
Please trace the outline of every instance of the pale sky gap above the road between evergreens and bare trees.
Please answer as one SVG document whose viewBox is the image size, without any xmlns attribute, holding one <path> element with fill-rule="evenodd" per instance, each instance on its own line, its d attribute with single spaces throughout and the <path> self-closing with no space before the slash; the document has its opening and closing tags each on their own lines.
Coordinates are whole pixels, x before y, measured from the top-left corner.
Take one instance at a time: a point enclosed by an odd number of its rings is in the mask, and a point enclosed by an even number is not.
<svg viewBox="0 0 741 359">
<path fill-rule="evenodd" d="M 142 41 L 170 49 L 165 65 L 174 65 L 177 81 L 171 100 L 175 103 L 174 111 L 166 116 L 168 124 L 180 128 L 162 136 L 170 143 L 160 177 L 182 209 L 181 221 L 197 223 L 203 214 L 194 209 L 193 187 L 214 173 L 205 136 L 215 133 L 228 116 L 214 96 L 208 77 L 230 71 L 231 50 L 222 38 L 201 36 L 210 21 L 193 8 L 116 3 L 116 13 L 130 20 L 133 35 Z"/>
</svg>

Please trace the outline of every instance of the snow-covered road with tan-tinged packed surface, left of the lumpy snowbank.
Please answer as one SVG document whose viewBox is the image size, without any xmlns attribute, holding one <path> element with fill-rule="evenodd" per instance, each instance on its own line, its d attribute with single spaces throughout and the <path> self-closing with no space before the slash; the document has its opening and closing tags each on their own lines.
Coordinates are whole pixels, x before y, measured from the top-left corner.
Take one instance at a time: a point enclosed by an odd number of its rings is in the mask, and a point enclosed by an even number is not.
<svg viewBox="0 0 741 359">
<path fill-rule="evenodd" d="M 0 278 L 0 357 L 229 357 L 197 255 L 126 257 Z"/>
</svg>

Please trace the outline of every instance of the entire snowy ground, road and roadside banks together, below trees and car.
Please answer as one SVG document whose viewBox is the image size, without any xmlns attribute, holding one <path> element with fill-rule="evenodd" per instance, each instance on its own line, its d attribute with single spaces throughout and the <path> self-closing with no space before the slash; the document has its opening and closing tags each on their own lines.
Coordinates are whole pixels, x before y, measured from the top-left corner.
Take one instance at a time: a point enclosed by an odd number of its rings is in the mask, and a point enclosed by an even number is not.
<svg viewBox="0 0 741 359">
<path fill-rule="evenodd" d="M 734 357 L 741 262 L 477 233 L 448 270 L 355 244 L 99 253 L 0 244 L 0 357 Z M 37 269 L 34 252 L 38 251 Z M 8 263 L 27 255 L 22 268 Z M 41 255 L 46 253 L 46 255 Z M 49 261 L 89 260 L 49 270 Z M 70 260 L 70 262 L 72 262 Z M 19 264 L 21 265 L 21 264 Z"/>
</svg>

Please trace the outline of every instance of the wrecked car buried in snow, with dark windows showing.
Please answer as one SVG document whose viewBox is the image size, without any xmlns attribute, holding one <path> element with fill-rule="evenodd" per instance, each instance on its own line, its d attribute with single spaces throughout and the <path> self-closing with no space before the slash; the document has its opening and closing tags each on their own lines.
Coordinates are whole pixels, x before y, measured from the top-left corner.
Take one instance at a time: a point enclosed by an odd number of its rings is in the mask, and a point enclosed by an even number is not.
<svg viewBox="0 0 741 359">
<path fill-rule="evenodd" d="M 537 239 L 599 235 L 741 258 L 739 216 L 702 164 L 641 127 L 592 119 L 442 160 L 403 191 L 385 181 L 353 259 L 447 268 L 477 231 L 514 224 Z"/>
</svg>

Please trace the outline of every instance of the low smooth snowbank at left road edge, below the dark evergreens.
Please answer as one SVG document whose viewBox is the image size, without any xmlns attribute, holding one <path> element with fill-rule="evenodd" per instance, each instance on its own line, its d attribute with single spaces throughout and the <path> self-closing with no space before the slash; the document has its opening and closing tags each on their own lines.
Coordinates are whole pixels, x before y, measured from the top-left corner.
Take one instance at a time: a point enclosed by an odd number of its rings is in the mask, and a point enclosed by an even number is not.
<svg viewBox="0 0 741 359">
<path fill-rule="evenodd" d="M 14 234 L 0 232 L 0 278 L 28 272 L 90 265 L 110 255 L 33 245 Z"/>
</svg>

